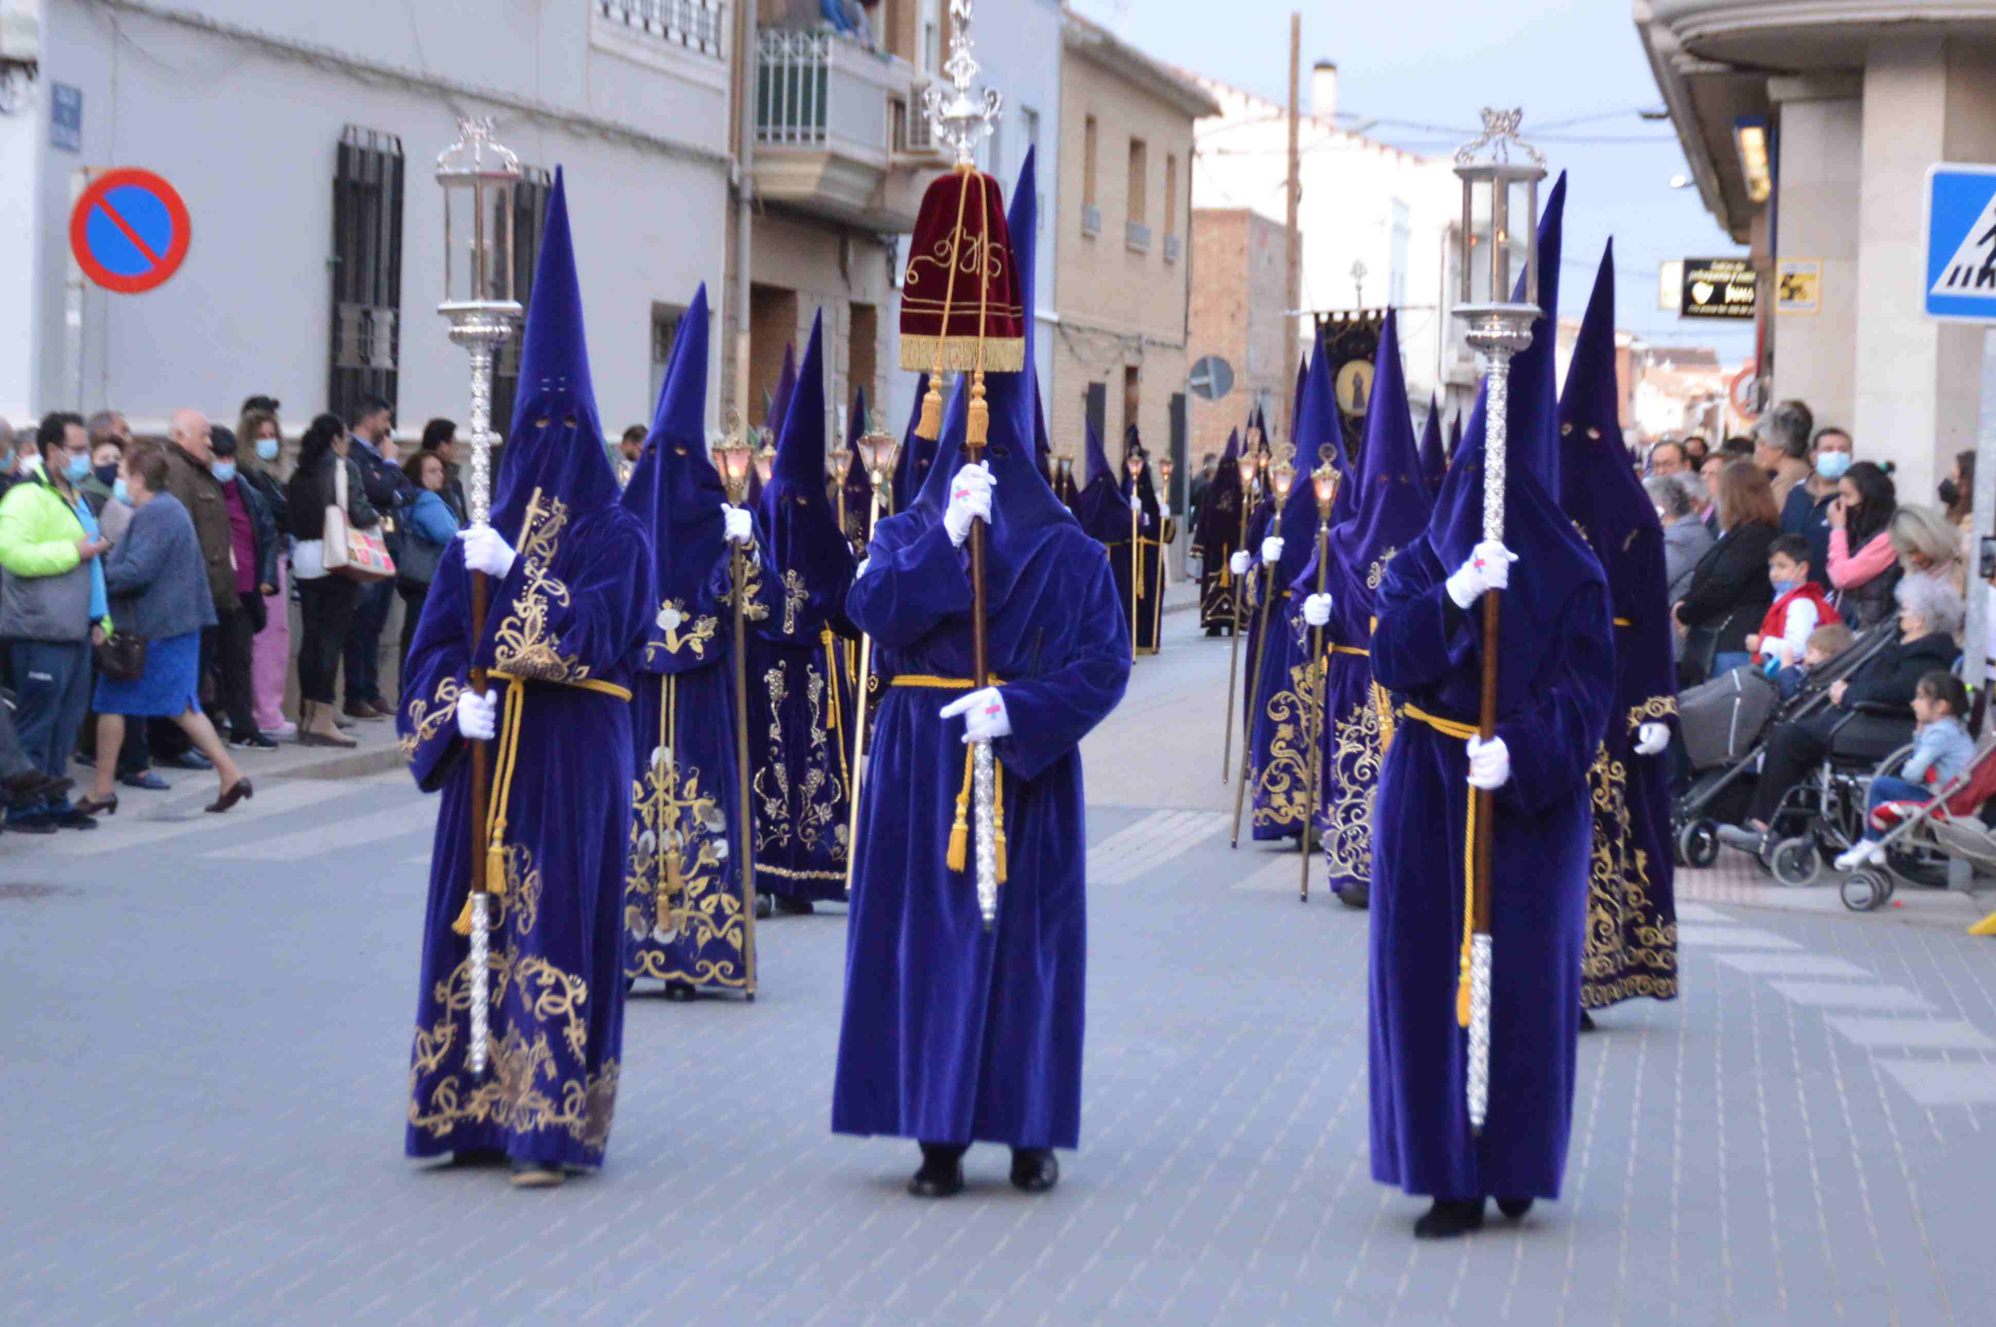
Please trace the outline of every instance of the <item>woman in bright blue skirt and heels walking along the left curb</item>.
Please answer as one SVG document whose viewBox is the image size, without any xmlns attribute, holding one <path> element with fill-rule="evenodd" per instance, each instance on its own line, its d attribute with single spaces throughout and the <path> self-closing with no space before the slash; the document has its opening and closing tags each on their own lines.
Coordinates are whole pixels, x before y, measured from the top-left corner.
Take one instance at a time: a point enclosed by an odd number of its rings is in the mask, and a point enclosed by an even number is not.
<svg viewBox="0 0 1996 1327">
<path fill-rule="evenodd" d="M 86 814 L 118 814 L 112 776 L 126 718 L 172 718 L 208 756 L 222 780 L 208 806 L 226 812 L 255 796 L 230 760 L 228 746 L 202 714 L 202 629 L 216 625 L 208 559 L 188 509 L 166 491 L 168 463 L 158 447 L 132 447 L 120 463 L 118 499 L 132 507 L 124 539 L 104 559 L 112 631 L 92 631 L 98 647 L 98 770 Z"/>
</svg>

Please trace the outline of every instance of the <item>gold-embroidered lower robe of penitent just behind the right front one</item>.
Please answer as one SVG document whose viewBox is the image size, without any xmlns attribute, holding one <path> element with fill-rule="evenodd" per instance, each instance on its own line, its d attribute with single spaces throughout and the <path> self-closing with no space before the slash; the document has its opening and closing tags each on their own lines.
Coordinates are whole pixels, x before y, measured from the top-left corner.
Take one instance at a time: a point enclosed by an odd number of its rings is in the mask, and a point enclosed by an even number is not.
<svg viewBox="0 0 1996 1327">
<path fill-rule="evenodd" d="M 1629 822 L 1629 772 L 1595 752 L 1587 770 L 1595 836 L 1587 872 L 1587 950 L 1581 1006 L 1599 1010 L 1635 996 L 1677 996 L 1677 922 L 1659 922 L 1649 896 L 1649 854 Z"/>
</svg>

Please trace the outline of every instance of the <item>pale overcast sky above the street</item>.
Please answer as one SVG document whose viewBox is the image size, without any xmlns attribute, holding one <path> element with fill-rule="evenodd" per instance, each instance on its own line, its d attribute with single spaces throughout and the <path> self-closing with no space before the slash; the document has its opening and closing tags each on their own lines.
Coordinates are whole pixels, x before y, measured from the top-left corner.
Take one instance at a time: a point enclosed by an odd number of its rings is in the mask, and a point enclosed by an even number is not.
<svg viewBox="0 0 1996 1327">
<path fill-rule="evenodd" d="M 1601 245 L 1613 235 L 1625 329 L 1663 345 L 1713 345 L 1725 363 L 1750 353 L 1750 325 L 1681 321 L 1657 309 L 1659 261 L 1739 247 L 1695 188 L 1671 188 L 1671 176 L 1687 172 L 1671 124 L 1637 118 L 1637 110 L 1661 110 L 1663 98 L 1629 0 L 1070 2 L 1162 60 L 1277 102 L 1289 88 L 1289 12 L 1301 10 L 1303 110 L 1309 66 L 1335 60 L 1339 110 L 1401 122 L 1365 132 L 1413 152 L 1447 156 L 1475 136 L 1483 106 L 1523 106 L 1525 136 L 1555 172 L 1571 176 L 1561 313 L 1587 307 Z M 1493 30 L 1493 14 L 1513 22 Z M 1339 124 L 1355 128 L 1351 116 Z"/>
</svg>

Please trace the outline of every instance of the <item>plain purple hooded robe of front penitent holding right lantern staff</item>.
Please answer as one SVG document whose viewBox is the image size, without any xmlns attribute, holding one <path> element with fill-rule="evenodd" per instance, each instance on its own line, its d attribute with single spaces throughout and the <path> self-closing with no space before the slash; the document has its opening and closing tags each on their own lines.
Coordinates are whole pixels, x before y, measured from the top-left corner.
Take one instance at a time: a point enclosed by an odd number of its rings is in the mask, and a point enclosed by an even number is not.
<svg viewBox="0 0 1996 1327">
<path fill-rule="evenodd" d="M 1601 563 L 1551 497 L 1559 297 L 1555 186 L 1541 227 L 1533 349 L 1513 367 L 1491 898 L 1491 1092 L 1481 1137 L 1465 1100 L 1469 1036 L 1457 1026 L 1469 826 L 1467 744 L 1483 674 L 1481 609 L 1445 579 L 1481 539 L 1485 403 L 1449 465 L 1435 519 L 1385 571 L 1373 674 L 1405 704 L 1373 810 L 1371 1173 L 1441 1199 L 1557 1197 L 1573 1127 L 1581 950 L 1593 846 L 1587 770 L 1615 704 L 1615 645 Z M 1547 233 L 1551 227 L 1551 235 Z"/>
</svg>

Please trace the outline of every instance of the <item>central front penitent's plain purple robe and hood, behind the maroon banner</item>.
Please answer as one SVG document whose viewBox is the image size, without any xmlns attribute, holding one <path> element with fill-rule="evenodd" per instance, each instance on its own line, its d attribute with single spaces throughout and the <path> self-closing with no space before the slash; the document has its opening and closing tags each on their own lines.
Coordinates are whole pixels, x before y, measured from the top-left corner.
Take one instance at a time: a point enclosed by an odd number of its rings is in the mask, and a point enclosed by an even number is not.
<svg viewBox="0 0 1996 1327">
<path fill-rule="evenodd" d="M 1030 152 L 1012 198 L 1012 237 L 1030 273 Z M 1026 365 L 1030 373 L 1030 341 Z M 994 373 L 988 385 L 986 457 L 998 481 L 990 670 L 1012 720 L 1012 736 L 992 742 L 1006 882 L 986 934 L 974 876 L 946 856 L 966 748 L 964 720 L 938 710 L 962 694 L 974 661 L 968 559 L 942 523 L 962 451 L 944 445 L 912 509 L 874 529 L 868 569 L 846 601 L 904 684 L 880 702 L 862 786 L 832 1129 L 1074 1147 L 1088 958 L 1078 744 L 1122 698 L 1130 635 L 1102 545 L 1034 461 L 1030 379 Z M 914 678 L 958 686 L 906 684 Z M 974 842 L 966 862 L 976 862 Z"/>
</svg>

